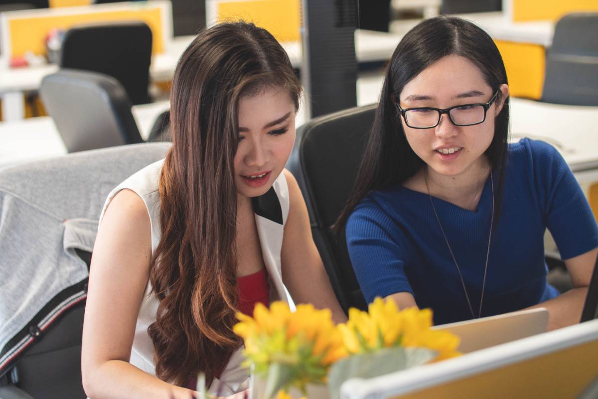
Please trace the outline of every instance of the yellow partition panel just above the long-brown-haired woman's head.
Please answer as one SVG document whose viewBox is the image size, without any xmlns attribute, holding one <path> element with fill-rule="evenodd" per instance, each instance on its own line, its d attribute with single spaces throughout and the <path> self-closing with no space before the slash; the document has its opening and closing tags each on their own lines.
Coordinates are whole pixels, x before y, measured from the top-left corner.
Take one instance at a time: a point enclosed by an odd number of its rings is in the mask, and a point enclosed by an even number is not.
<svg viewBox="0 0 598 399">
<path fill-rule="evenodd" d="M 267 29 L 279 41 L 301 39 L 299 0 L 219 1 L 216 20 L 246 20 Z"/>
</svg>

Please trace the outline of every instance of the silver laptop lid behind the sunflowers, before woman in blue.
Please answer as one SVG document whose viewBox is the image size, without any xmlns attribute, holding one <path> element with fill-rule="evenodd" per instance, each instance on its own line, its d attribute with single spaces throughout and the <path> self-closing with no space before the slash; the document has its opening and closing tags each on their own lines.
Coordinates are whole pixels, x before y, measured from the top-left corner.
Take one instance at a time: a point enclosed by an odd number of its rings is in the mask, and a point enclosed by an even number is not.
<svg viewBox="0 0 598 399">
<path fill-rule="evenodd" d="M 432 330 L 450 331 L 461 339 L 459 352 L 467 354 L 501 343 L 526 338 L 546 331 L 548 310 L 519 310 L 502 315 L 435 325 Z"/>
</svg>

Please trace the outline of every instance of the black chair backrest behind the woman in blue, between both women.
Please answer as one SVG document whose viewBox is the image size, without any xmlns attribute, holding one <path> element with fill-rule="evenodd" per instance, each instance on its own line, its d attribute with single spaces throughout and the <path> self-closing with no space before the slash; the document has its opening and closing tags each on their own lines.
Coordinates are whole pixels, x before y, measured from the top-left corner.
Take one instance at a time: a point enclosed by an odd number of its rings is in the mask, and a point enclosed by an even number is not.
<svg viewBox="0 0 598 399">
<path fill-rule="evenodd" d="M 287 164 L 306 200 L 313 238 L 344 310 L 365 309 L 366 303 L 344 234 L 337 237 L 330 227 L 352 192 L 375 111 L 376 104 L 350 108 L 304 124 Z"/>
</svg>

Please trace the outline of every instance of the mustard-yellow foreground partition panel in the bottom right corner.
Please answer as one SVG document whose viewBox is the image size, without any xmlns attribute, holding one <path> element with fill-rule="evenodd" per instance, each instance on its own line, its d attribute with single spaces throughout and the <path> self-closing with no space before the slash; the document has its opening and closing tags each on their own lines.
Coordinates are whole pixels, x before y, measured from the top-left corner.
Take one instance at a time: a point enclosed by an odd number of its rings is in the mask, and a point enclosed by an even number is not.
<svg viewBox="0 0 598 399">
<path fill-rule="evenodd" d="M 597 376 L 594 340 L 396 398 L 575 398 Z"/>
</svg>

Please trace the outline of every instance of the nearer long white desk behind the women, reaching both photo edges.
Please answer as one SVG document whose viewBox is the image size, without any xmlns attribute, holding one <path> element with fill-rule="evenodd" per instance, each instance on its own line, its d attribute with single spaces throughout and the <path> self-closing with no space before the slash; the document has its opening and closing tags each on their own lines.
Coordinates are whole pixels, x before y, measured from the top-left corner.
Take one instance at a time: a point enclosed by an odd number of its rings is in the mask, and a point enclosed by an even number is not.
<svg viewBox="0 0 598 399">
<path fill-rule="evenodd" d="M 378 101 L 383 77 L 364 74 L 357 82 L 358 105 Z M 167 102 L 138 105 L 133 114 L 145 138 Z M 303 109 L 297 126 L 305 122 Z M 511 98 L 511 136 L 541 139 L 556 147 L 580 184 L 598 181 L 598 106 L 556 105 Z M 0 123 L 0 165 L 66 154 L 50 117 Z"/>
</svg>

